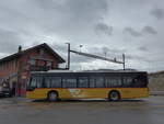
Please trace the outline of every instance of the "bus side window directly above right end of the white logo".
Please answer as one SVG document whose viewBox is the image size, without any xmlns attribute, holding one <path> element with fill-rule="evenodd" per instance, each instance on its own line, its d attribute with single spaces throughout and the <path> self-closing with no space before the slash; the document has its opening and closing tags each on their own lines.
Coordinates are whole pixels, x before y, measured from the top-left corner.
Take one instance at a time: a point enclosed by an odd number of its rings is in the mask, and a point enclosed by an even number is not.
<svg viewBox="0 0 164 124">
<path fill-rule="evenodd" d="M 78 87 L 79 88 L 87 88 L 89 83 L 89 79 L 87 77 L 79 77 L 79 83 Z"/>
</svg>

